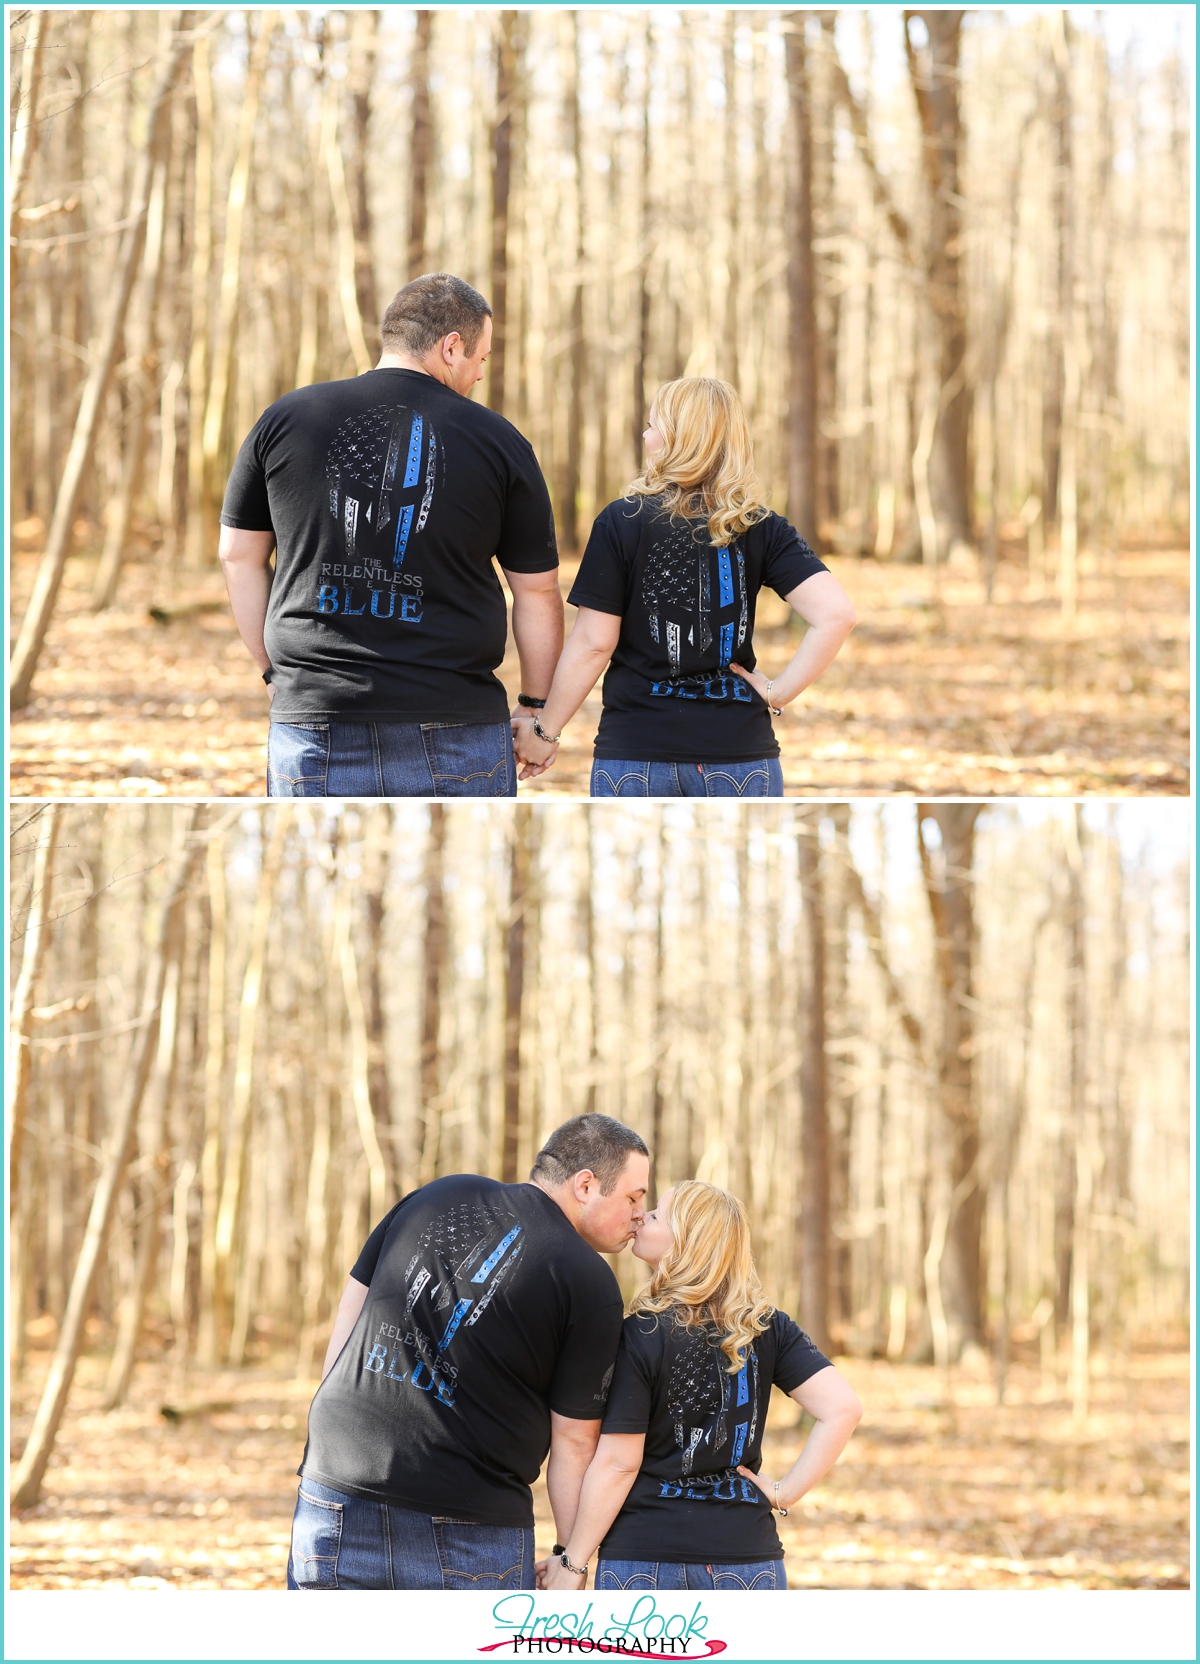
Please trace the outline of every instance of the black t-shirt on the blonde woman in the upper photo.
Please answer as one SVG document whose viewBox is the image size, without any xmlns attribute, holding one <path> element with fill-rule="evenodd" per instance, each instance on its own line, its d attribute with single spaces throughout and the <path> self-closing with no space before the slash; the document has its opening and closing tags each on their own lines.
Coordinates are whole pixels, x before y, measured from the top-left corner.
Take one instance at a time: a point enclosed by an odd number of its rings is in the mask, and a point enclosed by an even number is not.
<svg viewBox="0 0 1200 1664">
<path fill-rule="evenodd" d="M 779 514 L 726 549 L 702 519 L 671 519 L 659 498 L 619 498 L 596 518 L 569 594 L 621 616 L 604 676 L 598 757 L 752 762 L 777 757 L 766 701 L 729 669 L 754 669 L 754 601 L 786 597 L 824 561 Z"/>
</svg>

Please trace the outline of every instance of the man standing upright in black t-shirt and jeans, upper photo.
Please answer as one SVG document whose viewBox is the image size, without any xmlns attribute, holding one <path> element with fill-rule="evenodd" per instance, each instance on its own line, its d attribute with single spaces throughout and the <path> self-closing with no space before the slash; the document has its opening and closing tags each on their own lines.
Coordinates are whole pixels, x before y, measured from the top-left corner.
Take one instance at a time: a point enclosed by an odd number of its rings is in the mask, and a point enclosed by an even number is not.
<svg viewBox="0 0 1200 1664">
<path fill-rule="evenodd" d="M 416 278 L 381 333 L 376 369 L 260 416 L 225 493 L 230 604 L 271 699 L 268 794 L 514 797 L 493 559 L 528 716 L 563 647 L 546 481 L 468 398 L 491 349 L 483 295 Z"/>
</svg>

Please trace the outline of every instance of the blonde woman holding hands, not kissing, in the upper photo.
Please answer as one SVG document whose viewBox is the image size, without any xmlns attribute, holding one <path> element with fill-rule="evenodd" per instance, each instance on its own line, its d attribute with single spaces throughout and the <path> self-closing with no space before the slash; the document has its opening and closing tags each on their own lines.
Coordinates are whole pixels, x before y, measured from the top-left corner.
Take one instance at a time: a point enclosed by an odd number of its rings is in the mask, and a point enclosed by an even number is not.
<svg viewBox="0 0 1200 1664">
<path fill-rule="evenodd" d="M 544 709 L 514 722 L 521 779 L 604 677 L 593 797 L 782 797 L 771 717 L 832 662 L 849 596 L 762 504 L 751 434 L 727 381 L 669 381 L 642 434 L 646 469 L 599 514 L 569 601 L 579 607 Z M 774 679 L 754 667 L 769 584 L 809 624 Z"/>
</svg>

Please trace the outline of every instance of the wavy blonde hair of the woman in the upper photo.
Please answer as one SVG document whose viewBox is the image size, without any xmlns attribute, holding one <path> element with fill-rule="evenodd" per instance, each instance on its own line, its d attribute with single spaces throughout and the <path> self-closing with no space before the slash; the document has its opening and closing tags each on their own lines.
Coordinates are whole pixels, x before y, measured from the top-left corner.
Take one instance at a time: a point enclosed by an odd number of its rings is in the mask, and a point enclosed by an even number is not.
<svg viewBox="0 0 1200 1664">
<path fill-rule="evenodd" d="M 702 514 L 721 549 L 766 518 L 736 388 L 712 376 L 667 381 L 654 396 L 654 426 L 662 449 L 629 484 L 627 498 L 662 498 L 671 519 Z"/>
</svg>

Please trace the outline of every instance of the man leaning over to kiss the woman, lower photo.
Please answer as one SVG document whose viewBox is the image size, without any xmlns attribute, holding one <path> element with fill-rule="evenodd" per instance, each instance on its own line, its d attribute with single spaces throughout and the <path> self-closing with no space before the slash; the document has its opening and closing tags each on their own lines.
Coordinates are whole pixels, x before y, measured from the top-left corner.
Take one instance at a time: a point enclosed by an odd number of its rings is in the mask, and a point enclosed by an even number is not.
<svg viewBox="0 0 1200 1664">
<path fill-rule="evenodd" d="M 371 1231 L 308 1416 L 290 1589 L 533 1589 L 529 1486 L 559 1543 L 599 1439 L 622 1303 L 599 1258 L 642 1220 L 646 1145 L 551 1133 L 529 1183 L 458 1173 Z"/>
</svg>

